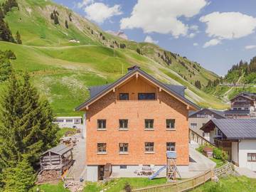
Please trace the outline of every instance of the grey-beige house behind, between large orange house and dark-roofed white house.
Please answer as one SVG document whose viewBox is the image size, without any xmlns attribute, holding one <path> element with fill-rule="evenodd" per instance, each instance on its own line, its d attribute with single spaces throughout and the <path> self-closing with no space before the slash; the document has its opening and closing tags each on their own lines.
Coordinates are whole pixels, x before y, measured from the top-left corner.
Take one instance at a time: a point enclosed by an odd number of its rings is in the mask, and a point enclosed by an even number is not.
<svg viewBox="0 0 256 192">
<path fill-rule="evenodd" d="M 210 119 L 223 119 L 223 111 L 202 109 L 196 112 L 189 112 L 188 114 L 188 126 L 193 132 L 196 132 L 201 137 L 204 137 L 209 141 L 210 137 L 208 133 L 203 132 L 200 128 L 203 127 Z"/>
</svg>

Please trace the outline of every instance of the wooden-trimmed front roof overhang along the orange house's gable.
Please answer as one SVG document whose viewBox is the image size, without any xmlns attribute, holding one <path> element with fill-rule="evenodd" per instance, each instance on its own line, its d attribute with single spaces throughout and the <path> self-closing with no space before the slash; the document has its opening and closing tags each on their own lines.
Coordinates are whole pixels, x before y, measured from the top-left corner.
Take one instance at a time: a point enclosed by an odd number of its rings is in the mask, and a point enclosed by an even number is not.
<svg viewBox="0 0 256 192">
<path fill-rule="evenodd" d="M 149 82 L 153 83 L 157 87 L 161 88 L 161 90 L 164 90 L 165 92 L 169 93 L 169 95 L 175 97 L 177 100 L 182 102 L 184 105 L 188 107 L 190 110 L 200 110 L 200 107 L 198 105 L 194 104 L 193 102 L 187 100 L 185 97 L 182 97 L 181 95 L 178 95 L 178 93 L 169 90 L 164 83 L 159 82 L 159 80 L 156 80 L 153 78 L 151 75 L 145 73 L 143 70 L 140 70 L 139 68 L 136 68 L 126 75 L 124 75 L 122 78 L 119 78 L 116 82 L 112 83 L 110 86 L 106 87 L 105 90 L 102 90 L 102 92 L 99 92 L 95 97 L 90 98 L 86 102 L 82 103 L 80 106 L 75 108 L 75 111 L 82 111 L 82 110 L 88 110 L 89 106 L 92 105 L 93 102 L 99 100 L 101 97 L 105 96 L 107 93 L 110 91 L 115 91 L 115 88 L 118 87 L 119 85 L 122 85 L 123 82 L 126 80 L 129 80 L 130 78 L 141 75 L 143 78 L 146 80 L 149 80 Z"/>
</svg>

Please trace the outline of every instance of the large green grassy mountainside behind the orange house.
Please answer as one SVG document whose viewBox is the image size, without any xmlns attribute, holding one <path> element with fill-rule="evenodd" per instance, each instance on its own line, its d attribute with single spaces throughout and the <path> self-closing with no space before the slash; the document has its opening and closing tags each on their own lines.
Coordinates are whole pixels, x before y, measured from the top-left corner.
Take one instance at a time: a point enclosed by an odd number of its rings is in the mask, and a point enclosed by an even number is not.
<svg viewBox="0 0 256 192">
<path fill-rule="evenodd" d="M 193 85 L 195 80 L 207 85 L 208 80 L 218 78 L 198 63 L 151 43 L 112 36 L 51 1 L 18 0 L 18 5 L 19 9 L 13 9 L 4 19 L 13 33 L 21 33 L 23 45 L 0 41 L 0 49 L 14 51 L 17 59 L 11 62 L 15 70 L 31 73 L 34 85 L 48 97 L 57 115 L 79 114 L 73 109 L 89 97 L 88 87 L 113 82 L 134 64 L 161 81 L 185 85 L 186 96 L 202 107 L 227 107 Z M 60 25 L 50 19 L 53 10 L 58 10 Z M 120 48 L 121 43 L 126 48 Z M 137 53 L 137 48 L 142 54 Z M 166 58 L 171 64 L 166 63 Z"/>
</svg>

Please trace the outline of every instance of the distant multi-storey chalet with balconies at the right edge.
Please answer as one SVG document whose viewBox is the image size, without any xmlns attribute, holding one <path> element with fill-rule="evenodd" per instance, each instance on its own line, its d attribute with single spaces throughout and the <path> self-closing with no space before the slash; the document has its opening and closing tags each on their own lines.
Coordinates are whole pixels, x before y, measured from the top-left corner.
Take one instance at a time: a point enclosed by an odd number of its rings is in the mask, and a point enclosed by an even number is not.
<svg viewBox="0 0 256 192">
<path fill-rule="evenodd" d="M 230 100 L 230 110 L 224 112 L 225 117 L 248 119 L 256 117 L 256 93 L 241 92 Z"/>
</svg>

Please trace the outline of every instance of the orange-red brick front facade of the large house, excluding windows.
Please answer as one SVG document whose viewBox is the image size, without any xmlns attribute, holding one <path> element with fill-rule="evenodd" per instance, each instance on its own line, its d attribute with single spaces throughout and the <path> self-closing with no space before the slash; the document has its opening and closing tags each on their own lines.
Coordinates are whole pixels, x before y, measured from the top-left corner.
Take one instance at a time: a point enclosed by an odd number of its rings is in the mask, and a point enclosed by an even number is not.
<svg viewBox="0 0 256 192">
<path fill-rule="evenodd" d="M 129 100 L 119 100 L 129 92 Z M 138 92 L 154 92 L 156 100 L 137 100 Z M 177 164 L 188 165 L 188 107 L 139 75 L 119 85 L 86 110 L 87 165 L 166 164 L 166 142 L 176 142 Z M 97 119 L 106 119 L 106 130 L 97 130 Z M 128 119 L 128 130 L 119 130 L 119 119 Z M 154 130 L 144 129 L 144 119 L 154 119 Z M 166 119 L 175 129 L 166 130 Z M 154 142 L 146 154 L 145 142 Z M 97 154 L 97 143 L 107 143 L 107 153 Z M 128 143 L 128 154 L 119 154 L 119 143 Z"/>
</svg>

